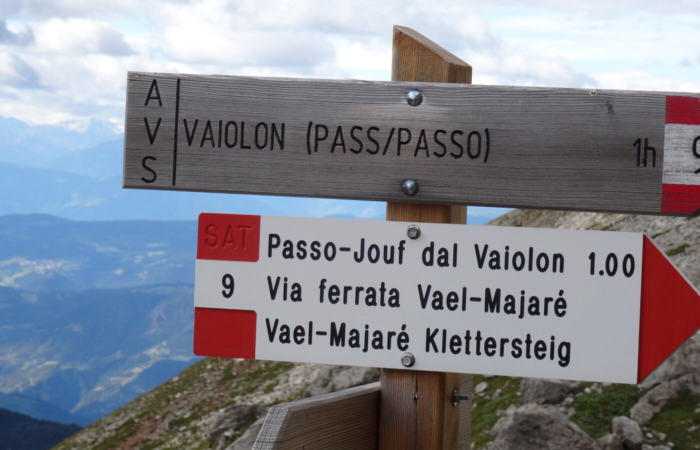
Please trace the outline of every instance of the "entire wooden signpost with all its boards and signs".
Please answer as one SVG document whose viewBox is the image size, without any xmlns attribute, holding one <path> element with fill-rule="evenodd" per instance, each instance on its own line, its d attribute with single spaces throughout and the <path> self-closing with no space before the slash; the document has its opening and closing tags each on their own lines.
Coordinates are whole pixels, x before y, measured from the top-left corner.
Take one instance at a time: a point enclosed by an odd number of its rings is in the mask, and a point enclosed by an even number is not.
<svg viewBox="0 0 700 450">
<path fill-rule="evenodd" d="M 391 82 L 128 75 L 126 188 L 388 202 L 386 223 L 200 216 L 196 353 L 385 368 L 275 407 L 255 449 L 465 449 L 456 372 L 634 383 L 700 325 L 642 234 L 447 225 L 451 204 L 696 213 L 699 94 L 465 85 L 393 40 Z"/>
</svg>

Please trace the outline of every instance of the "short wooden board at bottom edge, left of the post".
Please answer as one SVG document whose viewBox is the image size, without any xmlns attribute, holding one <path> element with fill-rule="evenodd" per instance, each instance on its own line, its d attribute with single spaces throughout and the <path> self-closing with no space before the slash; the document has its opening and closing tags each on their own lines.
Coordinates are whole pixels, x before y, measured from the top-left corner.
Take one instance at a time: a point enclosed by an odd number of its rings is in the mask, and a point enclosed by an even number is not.
<svg viewBox="0 0 700 450">
<path fill-rule="evenodd" d="M 275 405 L 253 450 L 377 449 L 379 383 Z"/>
</svg>

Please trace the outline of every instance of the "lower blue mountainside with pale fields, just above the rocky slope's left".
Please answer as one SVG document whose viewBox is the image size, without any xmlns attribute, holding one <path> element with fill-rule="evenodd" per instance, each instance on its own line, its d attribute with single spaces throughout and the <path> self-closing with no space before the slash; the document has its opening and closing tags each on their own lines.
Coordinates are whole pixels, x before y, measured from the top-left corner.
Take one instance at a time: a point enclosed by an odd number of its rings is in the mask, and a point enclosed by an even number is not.
<svg viewBox="0 0 700 450">
<path fill-rule="evenodd" d="M 0 311 L 0 392 L 89 421 L 197 360 L 191 286 L 78 293 L 0 288 Z"/>
</svg>

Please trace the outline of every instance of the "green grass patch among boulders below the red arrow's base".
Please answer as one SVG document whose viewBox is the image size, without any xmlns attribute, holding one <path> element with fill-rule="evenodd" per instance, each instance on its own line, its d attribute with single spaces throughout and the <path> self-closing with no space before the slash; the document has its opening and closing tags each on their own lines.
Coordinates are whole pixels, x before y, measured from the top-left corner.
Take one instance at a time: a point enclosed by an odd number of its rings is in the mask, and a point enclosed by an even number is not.
<svg viewBox="0 0 700 450">
<path fill-rule="evenodd" d="M 639 389 L 635 385 L 612 384 L 601 393 L 580 395 L 573 401 L 575 414 L 571 421 L 593 439 L 612 433 L 612 418 L 628 416 L 629 409 L 639 400 Z"/>
</svg>

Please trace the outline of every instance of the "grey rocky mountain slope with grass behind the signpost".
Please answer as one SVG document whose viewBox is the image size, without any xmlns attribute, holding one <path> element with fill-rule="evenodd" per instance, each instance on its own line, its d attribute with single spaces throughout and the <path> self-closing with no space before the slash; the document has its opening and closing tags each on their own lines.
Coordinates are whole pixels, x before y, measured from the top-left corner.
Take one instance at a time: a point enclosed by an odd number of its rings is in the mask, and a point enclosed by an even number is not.
<svg viewBox="0 0 700 450">
<path fill-rule="evenodd" d="M 491 225 L 645 232 L 700 284 L 700 218 L 517 210 Z M 378 373 L 206 358 L 55 448 L 250 449 L 270 405 Z M 474 449 L 700 449 L 698 334 L 636 386 L 486 375 L 474 386 Z"/>
</svg>

